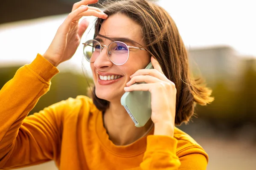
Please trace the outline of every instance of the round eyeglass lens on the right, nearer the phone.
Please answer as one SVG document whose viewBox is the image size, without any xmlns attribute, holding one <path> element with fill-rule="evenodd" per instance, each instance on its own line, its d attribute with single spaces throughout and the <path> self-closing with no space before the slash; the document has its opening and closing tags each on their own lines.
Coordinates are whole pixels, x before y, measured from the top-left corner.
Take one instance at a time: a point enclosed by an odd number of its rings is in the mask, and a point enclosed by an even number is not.
<svg viewBox="0 0 256 170">
<path fill-rule="evenodd" d="M 128 46 L 123 42 L 112 42 L 108 46 L 108 57 L 116 65 L 124 64 L 129 57 Z"/>
</svg>

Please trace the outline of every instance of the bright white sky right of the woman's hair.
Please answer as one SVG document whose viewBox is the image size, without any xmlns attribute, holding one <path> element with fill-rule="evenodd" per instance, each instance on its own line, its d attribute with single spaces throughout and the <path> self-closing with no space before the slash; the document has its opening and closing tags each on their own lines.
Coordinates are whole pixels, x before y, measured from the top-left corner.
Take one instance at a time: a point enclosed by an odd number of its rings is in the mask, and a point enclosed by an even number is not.
<svg viewBox="0 0 256 170">
<path fill-rule="evenodd" d="M 187 46 L 230 45 L 256 57 L 254 0 L 160 0 Z"/>
</svg>

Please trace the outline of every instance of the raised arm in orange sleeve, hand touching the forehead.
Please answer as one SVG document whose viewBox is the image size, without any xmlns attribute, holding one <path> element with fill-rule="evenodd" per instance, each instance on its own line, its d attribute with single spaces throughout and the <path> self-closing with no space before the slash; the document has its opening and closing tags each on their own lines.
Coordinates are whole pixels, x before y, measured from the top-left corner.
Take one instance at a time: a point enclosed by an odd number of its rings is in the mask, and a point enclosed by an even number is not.
<svg viewBox="0 0 256 170">
<path fill-rule="evenodd" d="M 38 164 L 55 159 L 61 142 L 61 108 L 59 104 L 26 117 L 38 99 L 50 87 L 50 79 L 58 73 L 55 67 L 70 59 L 88 26 L 82 16 L 107 18 L 99 8 L 88 4 L 97 0 L 81 0 L 49 45 L 43 56 L 38 54 L 29 65 L 21 67 L 15 77 L 0 91 L 0 169 Z M 58 160 L 56 160 L 58 161 Z"/>
</svg>

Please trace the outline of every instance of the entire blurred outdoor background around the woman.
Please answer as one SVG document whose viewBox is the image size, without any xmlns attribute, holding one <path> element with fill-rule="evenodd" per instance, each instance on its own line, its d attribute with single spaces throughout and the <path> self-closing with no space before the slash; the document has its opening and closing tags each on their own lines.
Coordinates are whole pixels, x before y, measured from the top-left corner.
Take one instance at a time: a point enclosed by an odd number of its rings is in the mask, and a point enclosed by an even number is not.
<svg viewBox="0 0 256 170">
<path fill-rule="evenodd" d="M 101 1 L 101 0 L 100 0 Z M 0 1 L 0 88 L 22 65 L 44 54 L 77 0 Z M 102 1 L 101 1 L 102 2 Z M 188 125 L 209 154 L 207 170 L 256 169 L 256 10 L 253 1 L 158 0 L 175 20 L 189 51 L 191 72 L 203 77 L 215 101 L 197 106 Z M 95 18 L 88 17 L 93 26 Z M 91 39 L 87 29 L 82 41 Z M 50 91 L 31 113 L 55 102 L 87 95 L 92 82 L 82 45 L 58 66 Z M 85 68 L 84 71 L 82 68 Z M 22 170 L 55 170 L 53 162 Z"/>
</svg>

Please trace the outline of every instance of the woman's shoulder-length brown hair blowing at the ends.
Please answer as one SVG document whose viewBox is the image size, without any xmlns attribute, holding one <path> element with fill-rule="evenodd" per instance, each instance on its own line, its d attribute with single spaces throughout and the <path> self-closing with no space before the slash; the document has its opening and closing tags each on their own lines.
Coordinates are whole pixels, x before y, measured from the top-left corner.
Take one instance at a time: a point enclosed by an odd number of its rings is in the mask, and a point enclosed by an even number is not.
<svg viewBox="0 0 256 170">
<path fill-rule="evenodd" d="M 165 76 L 175 83 L 175 125 L 189 121 L 196 103 L 207 105 L 213 101 L 213 97 L 210 97 L 212 91 L 201 85 L 199 79 L 193 80 L 190 77 L 186 47 L 166 10 L 148 0 L 120 0 L 104 6 L 108 16 L 125 14 L 142 27 L 145 42 L 143 48 L 157 59 Z M 102 22 L 103 19 L 96 20 L 95 36 L 105 37 L 99 34 Z M 99 110 L 105 111 L 108 108 L 109 102 L 96 96 L 95 87 L 92 96 Z"/>
</svg>

